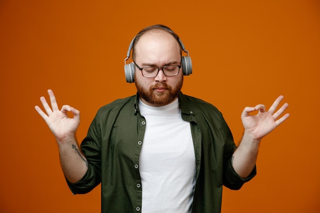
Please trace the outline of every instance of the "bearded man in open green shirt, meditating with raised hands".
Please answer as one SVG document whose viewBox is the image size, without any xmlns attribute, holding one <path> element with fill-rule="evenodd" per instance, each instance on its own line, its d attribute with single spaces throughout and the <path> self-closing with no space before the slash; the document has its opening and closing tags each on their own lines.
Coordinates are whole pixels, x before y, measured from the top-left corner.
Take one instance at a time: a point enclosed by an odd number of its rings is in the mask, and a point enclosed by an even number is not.
<svg viewBox="0 0 320 213">
<path fill-rule="evenodd" d="M 137 94 L 99 109 L 81 143 L 75 138 L 79 111 L 35 107 L 56 137 L 66 181 L 74 194 L 101 182 L 102 212 L 220 212 L 222 185 L 238 190 L 256 175 L 261 139 L 289 114 L 278 111 L 280 96 L 246 107 L 244 134 L 236 147 L 221 113 L 211 104 L 180 92 L 182 43 L 168 27 L 142 30 L 133 40 Z M 67 112 L 74 114 L 69 118 Z M 257 115 L 249 115 L 258 111 Z M 280 117 L 280 119 L 279 119 Z"/>
</svg>

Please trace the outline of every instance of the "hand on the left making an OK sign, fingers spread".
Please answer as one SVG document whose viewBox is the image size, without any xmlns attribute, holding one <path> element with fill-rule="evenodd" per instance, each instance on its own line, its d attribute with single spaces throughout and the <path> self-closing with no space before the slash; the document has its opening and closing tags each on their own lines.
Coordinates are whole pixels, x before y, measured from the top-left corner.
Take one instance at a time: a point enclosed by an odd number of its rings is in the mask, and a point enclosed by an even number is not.
<svg viewBox="0 0 320 213">
<path fill-rule="evenodd" d="M 39 106 L 35 106 L 36 111 L 39 113 L 45 123 L 47 123 L 49 129 L 56 137 L 57 142 L 63 143 L 70 137 L 75 138 L 76 131 L 80 124 L 79 110 L 68 105 L 63 105 L 61 110 L 59 110 L 56 98 L 51 89 L 48 90 L 48 94 L 52 109 L 45 98 L 41 97 L 40 101 L 47 114 L 44 113 Z M 68 117 L 67 112 L 72 112 L 74 117 Z"/>
</svg>

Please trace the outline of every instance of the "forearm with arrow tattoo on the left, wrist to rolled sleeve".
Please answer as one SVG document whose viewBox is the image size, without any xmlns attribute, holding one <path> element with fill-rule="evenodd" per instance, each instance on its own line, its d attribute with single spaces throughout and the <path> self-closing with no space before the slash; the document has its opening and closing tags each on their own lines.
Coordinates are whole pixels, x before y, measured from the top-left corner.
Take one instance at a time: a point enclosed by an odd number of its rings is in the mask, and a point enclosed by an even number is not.
<svg viewBox="0 0 320 213">
<path fill-rule="evenodd" d="M 75 137 L 57 142 L 63 174 L 68 181 L 75 183 L 85 175 L 88 162 L 81 153 Z"/>
</svg>

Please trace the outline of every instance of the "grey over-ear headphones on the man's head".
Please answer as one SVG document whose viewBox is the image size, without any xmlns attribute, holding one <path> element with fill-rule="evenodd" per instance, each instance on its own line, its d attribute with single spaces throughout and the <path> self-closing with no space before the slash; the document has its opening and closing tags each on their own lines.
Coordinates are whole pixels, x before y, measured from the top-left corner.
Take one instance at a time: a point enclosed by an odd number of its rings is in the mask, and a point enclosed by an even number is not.
<svg viewBox="0 0 320 213">
<path fill-rule="evenodd" d="M 132 45 L 135 37 L 132 39 L 129 49 L 127 52 L 127 58 L 124 59 L 124 74 L 126 76 L 126 81 L 128 83 L 133 83 L 134 82 L 134 72 L 135 72 L 135 65 L 133 62 L 127 64 L 127 60 L 130 57 L 130 52 L 132 50 Z M 179 39 L 179 43 L 181 44 L 182 47 L 182 52 L 187 53 L 187 56 L 182 56 L 181 57 L 181 67 L 182 67 L 182 72 L 184 73 L 184 76 L 189 76 L 192 74 L 192 63 L 191 63 L 191 58 L 189 57 L 189 52 L 185 49 L 185 45 L 182 43 L 182 41 Z"/>
</svg>

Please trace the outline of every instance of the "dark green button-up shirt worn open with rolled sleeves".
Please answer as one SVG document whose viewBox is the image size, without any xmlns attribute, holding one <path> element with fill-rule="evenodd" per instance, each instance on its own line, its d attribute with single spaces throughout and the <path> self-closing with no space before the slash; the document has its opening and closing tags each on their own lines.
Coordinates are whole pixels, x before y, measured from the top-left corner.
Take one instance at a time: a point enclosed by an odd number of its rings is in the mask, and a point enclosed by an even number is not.
<svg viewBox="0 0 320 213">
<path fill-rule="evenodd" d="M 141 212 L 139 156 L 147 122 L 139 112 L 138 95 L 101 107 L 81 143 L 88 171 L 77 183 L 67 181 L 74 194 L 84 194 L 101 183 L 101 211 Z M 232 190 L 256 175 L 242 179 L 232 167 L 236 149 L 221 112 L 202 100 L 179 94 L 181 117 L 190 123 L 196 160 L 194 213 L 221 211 L 222 185 Z M 159 134 L 164 134 L 159 133 Z"/>
</svg>

